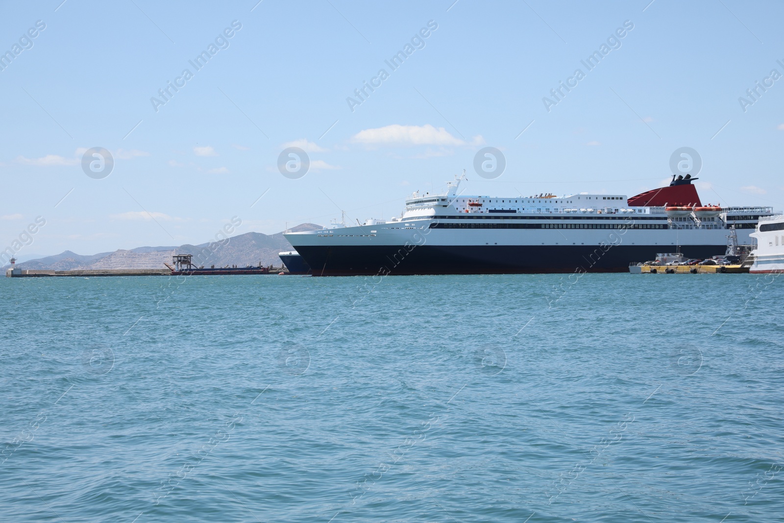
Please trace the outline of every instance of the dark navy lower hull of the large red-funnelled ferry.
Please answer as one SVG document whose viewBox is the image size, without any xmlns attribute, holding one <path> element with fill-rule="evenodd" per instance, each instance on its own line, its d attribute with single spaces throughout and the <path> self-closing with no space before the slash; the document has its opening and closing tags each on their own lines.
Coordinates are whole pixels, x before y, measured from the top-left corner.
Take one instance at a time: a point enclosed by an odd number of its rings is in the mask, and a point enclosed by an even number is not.
<svg viewBox="0 0 784 523">
<path fill-rule="evenodd" d="M 298 245 L 314 276 L 629 272 L 662 245 Z M 688 258 L 725 245 L 683 245 Z"/>
</svg>

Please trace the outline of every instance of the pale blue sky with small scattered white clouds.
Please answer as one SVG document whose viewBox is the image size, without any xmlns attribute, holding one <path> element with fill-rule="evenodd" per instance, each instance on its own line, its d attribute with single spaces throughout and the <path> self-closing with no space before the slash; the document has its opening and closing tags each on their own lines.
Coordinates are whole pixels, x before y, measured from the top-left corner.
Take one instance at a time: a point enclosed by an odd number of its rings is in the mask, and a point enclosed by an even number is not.
<svg viewBox="0 0 784 523">
<path fill-rule="evenodd" d="M 633 195 L 668 183 L 681 147 L 703 202 L 784 209 L 781 2 L 0 13 L 0 249 L 20 260 L 209 242 L 232 220 L 388 219 L 463 169 L 463 194 Z"/>
</svg>

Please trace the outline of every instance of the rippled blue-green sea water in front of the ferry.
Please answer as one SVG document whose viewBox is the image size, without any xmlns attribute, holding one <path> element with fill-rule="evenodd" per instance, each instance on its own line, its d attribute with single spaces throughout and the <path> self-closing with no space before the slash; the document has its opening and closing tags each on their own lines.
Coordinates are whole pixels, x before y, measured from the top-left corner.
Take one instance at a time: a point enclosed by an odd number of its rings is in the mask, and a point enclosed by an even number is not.
<svg viewBox="0 0 784 523">
<path fill-rule="evenodd" d="M 0 521 L 782 521 L 784 278 L 0 289 Z"/>
</svg>

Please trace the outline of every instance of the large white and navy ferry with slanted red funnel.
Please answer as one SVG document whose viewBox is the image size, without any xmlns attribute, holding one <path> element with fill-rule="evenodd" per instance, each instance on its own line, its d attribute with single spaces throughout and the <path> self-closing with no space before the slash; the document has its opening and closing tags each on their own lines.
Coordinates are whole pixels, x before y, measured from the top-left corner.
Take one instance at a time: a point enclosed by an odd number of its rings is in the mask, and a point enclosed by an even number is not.
<svg viewBox="0 0 784 523">
<path fill-rule="evenodd" d="M 677 250 L 689 258 L 724 254 L 770 207 L 702 205 L 690 176 L 669 187 L 624 194 L 466 196 L 463 176 L 446 194 L 415 192 L 399 218 L 333 223 L 285 238 L 311 274 L 513 274 L 621 272 L 630 262 Z"/>
</svg>

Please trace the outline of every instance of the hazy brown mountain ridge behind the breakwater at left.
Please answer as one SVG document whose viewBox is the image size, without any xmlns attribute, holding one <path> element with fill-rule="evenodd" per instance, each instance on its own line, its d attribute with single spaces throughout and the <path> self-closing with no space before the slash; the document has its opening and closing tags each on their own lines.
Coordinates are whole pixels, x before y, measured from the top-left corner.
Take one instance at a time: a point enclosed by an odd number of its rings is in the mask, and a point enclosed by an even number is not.
<svg viewBox="0 0 784 523">
<path fill-rule="evenodd" d="M 316 231 L 321 225 L 302 223 L 292 227 L 292 231 Z M 55 256 L 38 260 L 16 263 L 16 267 L 27 270 L 68 271 L 73 269 L 158 269 L 163 263 L 172 263 L 174 254 L 192 254 L 196 266 L 226 267 L 238 265 L 281 265 L 278 252 L 294 250 L 284 238 L 283 233 L 261 234 L 249 232 L 232 236 L 227 242 L 207 242 L 199 245 L 137 247 L 118 249 L 114 252 L 100 252 L 92 256 L 82 256 L 65 251 Z M 9 266 L 6 266 L 9 267 Z M 4 267 L 5 268 L 5 267 Z"/>
</svg>

